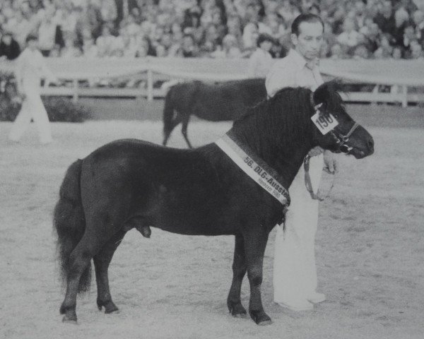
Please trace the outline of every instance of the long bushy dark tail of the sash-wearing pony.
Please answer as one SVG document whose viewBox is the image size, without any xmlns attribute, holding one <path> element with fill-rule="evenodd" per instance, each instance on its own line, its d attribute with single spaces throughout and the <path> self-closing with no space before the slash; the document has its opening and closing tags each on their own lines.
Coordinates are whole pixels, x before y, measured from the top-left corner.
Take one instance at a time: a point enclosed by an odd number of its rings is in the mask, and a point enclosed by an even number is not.
<svg viewBox="0 0 424 339">
<path fill-rule="evenodd" d="M 86 230 L 81 201 L 81 165 L 83 160 L 76 160 L 66 171 L 59 191 L 59 201 L 54 208 L 54 228 L 57 231 L 57 249 L 61 266 L 61 278 L 66 282 L 69 275 L 69 256 L 83 237 Z M 86 292 L 90 288 L 91 264 L 81 275 L 78 292 Z"/>
</svg>

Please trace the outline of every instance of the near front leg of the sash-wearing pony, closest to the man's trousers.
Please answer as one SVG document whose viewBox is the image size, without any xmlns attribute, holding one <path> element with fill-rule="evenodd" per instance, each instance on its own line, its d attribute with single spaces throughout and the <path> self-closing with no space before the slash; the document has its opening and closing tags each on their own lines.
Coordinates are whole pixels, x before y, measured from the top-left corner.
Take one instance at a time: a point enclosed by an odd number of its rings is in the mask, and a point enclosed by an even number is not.
<svg viewBox="0 0 424 339">
<path fill-rule="evenodd" d="M 268 325 L 271 323 L 271 318 L 265 313 L 261 300 L 262 266 L 268 232 L 261 226 L 248 232 L 245 234 L 245 254 L 250 283 L 249 314 L 258 325 Z"/>
</svg>

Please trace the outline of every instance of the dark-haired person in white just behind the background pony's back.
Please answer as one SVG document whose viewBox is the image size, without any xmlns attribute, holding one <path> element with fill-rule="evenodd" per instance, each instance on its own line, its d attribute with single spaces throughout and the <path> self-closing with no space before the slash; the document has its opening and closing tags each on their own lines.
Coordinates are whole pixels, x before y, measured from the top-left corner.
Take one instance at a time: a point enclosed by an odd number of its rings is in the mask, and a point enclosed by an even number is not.
<svg viewBox="0 0 424 339">
<path fill-rule="evenodd" d="M 251 78 L 265 78 L 272 66 L 272 57 L 269 53 L 273 38 L 268 34 L 260 34 L 257 40 L 257 49 L 249 58 L 247 73 Z"/>
</svg>

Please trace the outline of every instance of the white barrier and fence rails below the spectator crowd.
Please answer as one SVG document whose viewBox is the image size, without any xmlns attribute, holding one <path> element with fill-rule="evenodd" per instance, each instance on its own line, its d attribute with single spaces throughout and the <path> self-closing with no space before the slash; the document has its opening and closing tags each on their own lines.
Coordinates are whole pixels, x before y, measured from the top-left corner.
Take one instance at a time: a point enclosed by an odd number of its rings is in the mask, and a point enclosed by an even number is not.
<svg viewBox="0 0 424 339">
<path fill-rule="evenodd" d="M 46 59 L 49 69 L 67 86 L 42 88 L 43 95 L 67 95 L 78 100 L 81 96 L 104 97 L 163 97 L 165 90 L 155 88 L 157 81 L 171 79 L 198 79 L 206 82 L 230 81 L 247 78 L 248 59 L 208 58 L 155 58 L 143 59 Z M 0 72 L 11 72 L 15 64 L 0 63 Z M 320 64 L 326 78 L 341 78 L 348 83 L 375 85 L 371 92 L 346 93 L 352 102 L 424 102 L 424 91 L 411 93 L 408 88 L 424 88 L 424 60 L 332 60 L 323 59 Z M 102 81 L 133 79 L 138 87 L 103 87 Z M 86 81 L 88 87 L 78 83 Z M 389 93 L 381 93 L 379 85 L 389 85 Z M 421 92 L 421 93 L 420 93 Z"/>
</svg>

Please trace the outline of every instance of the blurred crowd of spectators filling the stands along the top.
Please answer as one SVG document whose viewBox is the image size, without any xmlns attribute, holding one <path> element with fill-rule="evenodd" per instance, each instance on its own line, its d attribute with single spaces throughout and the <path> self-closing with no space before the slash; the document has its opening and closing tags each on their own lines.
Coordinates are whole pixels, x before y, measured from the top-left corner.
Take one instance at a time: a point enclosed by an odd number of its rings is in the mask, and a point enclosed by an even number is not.
<svg viewBox="0 0 424 339">
<path fill-rule="evenodd" d="M 423 59 L 423 0 L 1 0 L 0 57 L 35 33 L 45 57 L 250 57 L 290 48 L 300 13 L 324 21 L 322 57 Z"/>
</svg>

